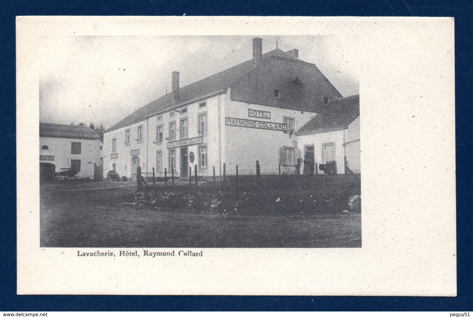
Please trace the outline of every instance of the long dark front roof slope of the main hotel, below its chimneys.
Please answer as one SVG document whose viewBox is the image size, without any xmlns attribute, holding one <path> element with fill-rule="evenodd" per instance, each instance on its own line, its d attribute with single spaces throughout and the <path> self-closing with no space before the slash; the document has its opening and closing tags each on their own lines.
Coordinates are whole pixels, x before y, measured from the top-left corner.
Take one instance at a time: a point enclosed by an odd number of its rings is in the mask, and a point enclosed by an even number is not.
<svg viewBox="0 0 473 317">
<path fill-rule="evenodd" d="M 273 51 L 263 54 L 263 62 L 270 59 L 272 56 L 302 62 L 302 60 L 299 60 L 298 58 L 288 54 L 285 51 L 281 51 L 280 49 L 275 49 Z M 244 77 L 253 69 L 253 60 L 247 60 L 234 67 L 223 70 L 215 75 L 201 79 L 190 85 L 181 87 L 179 89 L 178 100 L 174 99 L 173 92 L 165 94 L 164 96 L 156 99 L 155 101 L 152 101 L 151 103 L 148 103 L 144 107 L 141 107 L 137 111 L 131 113 L 131 115 L 129 115 L 125 119 L 115 123 L 112 127 L 107 129 L 105 133 L 126 127 L 134 122 L 145 120 L 146 117 L 150 114 L 169 108 L 173 104 L 185 103 L 187 101 L 199 98 L 200 96 L 211 94 L 222 89 L 227 89 L 234 82 L 236 82 L 241 77 Z"/>
</svg>

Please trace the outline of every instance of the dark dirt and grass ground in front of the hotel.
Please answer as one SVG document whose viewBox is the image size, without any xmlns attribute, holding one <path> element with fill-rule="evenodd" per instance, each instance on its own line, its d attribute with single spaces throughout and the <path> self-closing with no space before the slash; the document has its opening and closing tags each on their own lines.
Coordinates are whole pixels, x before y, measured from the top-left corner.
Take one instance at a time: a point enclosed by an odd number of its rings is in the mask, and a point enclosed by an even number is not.
<svg viewBox="0 0 473 317">
<path fill-rule="evenodd" d="M 130 183 L 123 187 L 116 183 L 114 188 L 96 184 L 100 189 L 89 184 L 41 188 L 41 247 L 361 247 L 361 214 L 343 213 L 341 203 L 320 188 L 315 195 L 315 189 L 307 186 L 295 194 L 284 186 L 268 192 L 267 186 L 240 184 L 245 191 L 239 188 L 236 196 L 229 194 L 234 192 L 232 186 L 161 186 L 139 199 Z M 340 188 L 337 184 L 321 188 L 333 187 Z M 353 189 L 340 192 L 347 196 Z M 247 197 L 245 202 L 233 208 L 242 197 Z"/>
</svg>

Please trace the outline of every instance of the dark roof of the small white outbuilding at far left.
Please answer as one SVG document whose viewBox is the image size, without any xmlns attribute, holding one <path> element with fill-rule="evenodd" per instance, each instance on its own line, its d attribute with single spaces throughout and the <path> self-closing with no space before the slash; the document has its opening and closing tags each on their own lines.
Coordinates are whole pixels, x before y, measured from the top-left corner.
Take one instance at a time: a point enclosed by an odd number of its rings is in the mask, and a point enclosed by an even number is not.
<svg viewBox="0 0 473 317">
<path fill-rule="evenodd" d="M 88 126 L 73 126 L 68 124 L 39 123 L 40 137 L 63 137 L 70 139 L 96 140 L 100 139 L 97 131 Z"/>
</svg>

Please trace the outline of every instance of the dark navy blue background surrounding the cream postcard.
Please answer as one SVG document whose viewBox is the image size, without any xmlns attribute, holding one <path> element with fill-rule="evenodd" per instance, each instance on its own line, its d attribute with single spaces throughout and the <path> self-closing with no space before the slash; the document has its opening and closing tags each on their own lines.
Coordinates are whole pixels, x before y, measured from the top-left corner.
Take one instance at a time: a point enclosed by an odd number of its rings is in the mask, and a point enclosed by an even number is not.
<svg viewBox="0 0 473 317">
<path fill-rule="evenodd" d="M 283 296 L 17 296 L 15 153 L 15 16 L 420 16 L 455 17 L 457 273 L 458 296 L 283 297 Z M 159 310 L 473 310 L 472 232 L 472 66 L 471 0 L 2 0 L 0 4 L 0 311 Z M 21 155 L 21 149 L 20 154 Z M 410 166 L 415 173 L 415 166 Z M 441 172 L 441 171 L 439 171 Z M 389 274 L 389 273 L 388 273 Z"/>
</svg>

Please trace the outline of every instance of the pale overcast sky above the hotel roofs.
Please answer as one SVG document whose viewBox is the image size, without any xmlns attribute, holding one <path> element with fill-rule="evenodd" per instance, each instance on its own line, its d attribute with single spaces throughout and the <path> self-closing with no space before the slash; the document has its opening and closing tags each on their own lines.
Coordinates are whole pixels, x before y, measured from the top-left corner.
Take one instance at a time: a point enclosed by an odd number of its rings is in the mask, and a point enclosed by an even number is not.
<svg viewBox="0 0 473 317">
<path fill-rule="evenodd" d="M 180 86 L 252 58 L 252 41 L 263 53 L 275 36 L 64 36 L 41 38 L 40 121 L 103 123 L 110 128 L 131 112 Z M 278 36 L 283 51 L 297 48 L 343 96 L 359 93 L 357 36 Z"/>
</svg>

